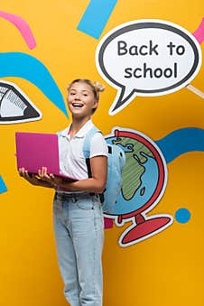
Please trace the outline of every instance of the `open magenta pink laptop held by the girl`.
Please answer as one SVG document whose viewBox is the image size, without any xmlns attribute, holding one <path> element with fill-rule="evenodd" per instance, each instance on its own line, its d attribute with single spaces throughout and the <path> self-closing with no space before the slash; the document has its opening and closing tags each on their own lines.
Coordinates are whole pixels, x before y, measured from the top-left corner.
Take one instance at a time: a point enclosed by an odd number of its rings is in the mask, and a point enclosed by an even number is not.
<svg viewBox="0 0 204 306">
<path fill-rule="evenodd" d="M 59 146 L 57 134 L 16 132 L 17 169 L 24 168 L 30 173 L 38 173 L 42 167 L 47 172 L 65 180 L 74 180 L 60 173 Z"/>
</svg>

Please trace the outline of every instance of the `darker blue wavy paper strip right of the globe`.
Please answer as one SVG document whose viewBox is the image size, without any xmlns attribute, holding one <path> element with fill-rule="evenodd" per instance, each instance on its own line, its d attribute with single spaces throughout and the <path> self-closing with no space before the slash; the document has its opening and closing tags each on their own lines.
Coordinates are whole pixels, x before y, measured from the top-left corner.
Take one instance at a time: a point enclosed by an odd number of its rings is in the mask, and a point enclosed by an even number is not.
<svg viewBox="0 0 204 306">
<path fill-rule="evenodd" d="M 162 151 L 165 161 L 172 162 L 183 153 L 204 152 L 204 130 L 187 127 L 173 131 L 158 141 L 154 141 Z"/>
</svg>

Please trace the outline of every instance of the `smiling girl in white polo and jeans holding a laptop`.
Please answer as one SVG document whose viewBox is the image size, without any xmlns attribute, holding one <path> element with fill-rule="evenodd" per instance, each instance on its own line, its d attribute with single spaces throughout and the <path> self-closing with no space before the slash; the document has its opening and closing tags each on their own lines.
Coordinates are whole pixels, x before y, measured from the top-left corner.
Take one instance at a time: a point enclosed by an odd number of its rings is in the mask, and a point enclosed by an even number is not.
<svg viewBox="0 0 204 306">
<path fill-rule="evenodd" d="M 107 181 L 107 143 L 97 133 L 90 143 L 91 178 L 83 156 L 85 135 L 93 126 L 91 116 L 104 87 L 88 79 L 75 79 L 68 87 L 68 107 L 72 123 L 59 133 L 60 170 L 79 181 L 62 181 L 48 174 L 20 175 L 33 185 L 56 190 L 54 232 L 64 294 L 71 306 L 102 306 L 101 254 L 104 240 L 103 213 L 99 193 Z"/>
</svg>

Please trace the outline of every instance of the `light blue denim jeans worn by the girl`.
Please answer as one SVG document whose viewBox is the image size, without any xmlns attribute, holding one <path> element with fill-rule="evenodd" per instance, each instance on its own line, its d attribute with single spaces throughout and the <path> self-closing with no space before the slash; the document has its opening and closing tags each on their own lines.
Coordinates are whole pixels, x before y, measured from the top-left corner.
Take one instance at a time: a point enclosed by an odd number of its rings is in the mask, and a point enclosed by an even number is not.
<svg viewBox="0 0 204 306">
<path fill-rule="evenodd" d="M 55 194 L 54 232 L 71 306 L 102 306 L 104 219 L 98 195 Z"/>
</svg>

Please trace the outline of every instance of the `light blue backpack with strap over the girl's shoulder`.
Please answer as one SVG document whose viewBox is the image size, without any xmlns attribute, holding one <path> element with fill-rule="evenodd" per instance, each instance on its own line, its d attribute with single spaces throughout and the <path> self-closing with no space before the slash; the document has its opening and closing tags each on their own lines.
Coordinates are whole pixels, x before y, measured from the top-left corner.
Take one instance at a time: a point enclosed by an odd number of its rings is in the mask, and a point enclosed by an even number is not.
<svg viewBox="0 0 204 306">
<path fill-rule="evenodd" d="M 88 166 L 88 177 L 91 177 L 90 169 L 90 140 L 96 133 L 101 133 L 93 126 L 85 136 L 83 153 Z M 100 194 L 103 212 L 107 215 L 114 214 L 114 205 L 122 186 L 122 172 L 125 166 L 125 152 L 116 144 L 107 144 L 107 184 L 103 193 Z"/>
</svg>

